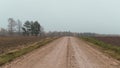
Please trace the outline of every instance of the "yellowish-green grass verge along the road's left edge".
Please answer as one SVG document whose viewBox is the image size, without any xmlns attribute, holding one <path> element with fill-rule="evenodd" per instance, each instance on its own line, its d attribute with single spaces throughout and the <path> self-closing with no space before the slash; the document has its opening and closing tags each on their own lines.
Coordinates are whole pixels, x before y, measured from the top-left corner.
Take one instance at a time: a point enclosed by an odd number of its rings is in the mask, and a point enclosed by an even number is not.
<svg viewBox="0 0 120 68">
<path fill-rule="evenodd" d="M 31 44 L 29 47 L 25 47 L 25 48 L 22 48 L 19 50 L 13 50 L 13 51 L 10 51 L 8 53 L 2 54 L 2 55 L 0 55 L 0 66 L 4 65 L 10 61 L 13 61 L 17 57 L 25 55 L 25 54 L 27 54 L 27 53 L 29 53 L 37 48 L 40 48 L 40 47 L 52 42 L 55 39 L 57 39 L 57 38 L 46 38 L 46 39 L 43 39 L 39 42 Z"/>
</svg>

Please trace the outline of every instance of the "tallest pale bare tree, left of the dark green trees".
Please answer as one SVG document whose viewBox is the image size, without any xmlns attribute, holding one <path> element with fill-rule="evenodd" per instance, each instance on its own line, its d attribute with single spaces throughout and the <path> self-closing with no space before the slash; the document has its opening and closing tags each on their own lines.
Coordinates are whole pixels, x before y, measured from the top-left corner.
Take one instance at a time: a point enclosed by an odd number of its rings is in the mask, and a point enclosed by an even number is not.
<svg viewBox="0 0 120 68">
<path fill-rule="evenodd" d="M 11 35 L 13 35 L 13 32 L 15 31 L 15 26 L 17 25 L 16 21 L 13 18 L 9 18 L 8 22 L 8 31 Z"/>
</svg>

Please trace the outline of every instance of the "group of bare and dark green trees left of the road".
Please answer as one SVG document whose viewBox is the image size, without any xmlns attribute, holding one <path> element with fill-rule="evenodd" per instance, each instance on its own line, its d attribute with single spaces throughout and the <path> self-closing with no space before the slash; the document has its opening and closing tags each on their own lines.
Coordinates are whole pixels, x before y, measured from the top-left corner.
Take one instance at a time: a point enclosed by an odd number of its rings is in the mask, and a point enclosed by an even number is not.
<svg viewBox="0 0 120 68">
<path fill-rule="evenodd" d="M 44 29 L 38 21 L 15 21 L 13 18 L 8 19 L 8 29 L 1 28 L 1 35 L 23 35 L 23 36 L 41 36 Z"/>
</svg>

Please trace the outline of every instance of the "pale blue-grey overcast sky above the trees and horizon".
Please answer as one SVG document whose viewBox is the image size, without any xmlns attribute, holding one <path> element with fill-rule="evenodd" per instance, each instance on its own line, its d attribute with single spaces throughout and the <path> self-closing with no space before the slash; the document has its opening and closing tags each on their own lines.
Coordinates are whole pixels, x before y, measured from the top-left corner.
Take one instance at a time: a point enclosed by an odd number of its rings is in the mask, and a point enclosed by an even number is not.
<svg viewBox="0 0 120 68">
<path fill-rule="evenodd" d="M 0 0 L 0 27 L 8 18 L 38 20 L 46 31 L 120 34 L 120 0 Z"/>
</svg>

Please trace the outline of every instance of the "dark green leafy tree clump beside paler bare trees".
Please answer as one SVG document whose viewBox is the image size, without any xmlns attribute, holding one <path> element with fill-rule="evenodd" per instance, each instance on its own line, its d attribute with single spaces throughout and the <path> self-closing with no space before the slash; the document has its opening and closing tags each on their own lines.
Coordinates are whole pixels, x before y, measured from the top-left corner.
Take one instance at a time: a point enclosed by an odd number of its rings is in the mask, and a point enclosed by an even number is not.
<svg viewBox="0 0 120 68">
<path fill-rule="evenodd" d="M 38 21 L 26 21 L 22 29 L 24 35 L 38 36 L 41 32 L 41 25 L 38 23 Z"/>
</svg>

